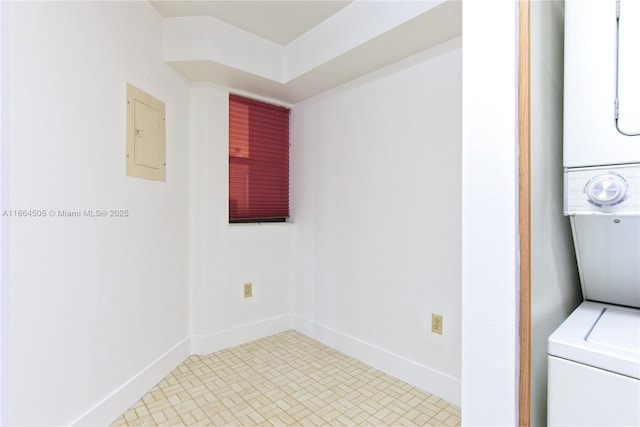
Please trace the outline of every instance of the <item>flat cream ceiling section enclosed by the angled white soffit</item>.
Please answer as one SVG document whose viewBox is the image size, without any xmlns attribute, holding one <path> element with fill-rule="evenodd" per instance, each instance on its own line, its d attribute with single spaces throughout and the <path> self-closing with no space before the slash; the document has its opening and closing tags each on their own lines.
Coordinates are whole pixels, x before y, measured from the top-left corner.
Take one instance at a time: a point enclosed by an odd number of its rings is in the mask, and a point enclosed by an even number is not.
<svg viewBox="0 0 640 427">
<path fill-rule="evenodd" d="M 151 1 L 165 18 L 212 16 L 263 39 L 285 46 L 334 15 L 349 1 Z"/>
</svg>

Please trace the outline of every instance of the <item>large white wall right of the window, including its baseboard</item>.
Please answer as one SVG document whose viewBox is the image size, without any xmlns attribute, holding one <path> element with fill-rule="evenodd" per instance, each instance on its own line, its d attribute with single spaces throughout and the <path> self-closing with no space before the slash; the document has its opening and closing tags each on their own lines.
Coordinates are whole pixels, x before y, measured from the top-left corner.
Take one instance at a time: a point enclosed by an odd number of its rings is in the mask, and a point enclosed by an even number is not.
<svg viewBox="0 0 640 427">
<path fill-rule="evenodd" d="M 301 330 L 453 403 L 460 72 L 455 39 L 297 104 L 291 128 Z"/>
</svg>

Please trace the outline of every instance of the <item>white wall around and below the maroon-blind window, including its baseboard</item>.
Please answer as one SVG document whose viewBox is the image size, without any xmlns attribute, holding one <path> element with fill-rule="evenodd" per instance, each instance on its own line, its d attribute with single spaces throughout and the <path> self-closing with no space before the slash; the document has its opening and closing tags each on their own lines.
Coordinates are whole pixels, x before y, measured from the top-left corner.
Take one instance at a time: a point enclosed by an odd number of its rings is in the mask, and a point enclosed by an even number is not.
<svg viewBox="0 0 640 427">
<path fill-rule="evenodd" d="M 228 89 L 193 85 L 191 330 L 198 354 L 290 327 L 294 225 L 229 225 L 228 106 Z M 244 298 L 247 282 L 251 298 Z"/>
</svg>

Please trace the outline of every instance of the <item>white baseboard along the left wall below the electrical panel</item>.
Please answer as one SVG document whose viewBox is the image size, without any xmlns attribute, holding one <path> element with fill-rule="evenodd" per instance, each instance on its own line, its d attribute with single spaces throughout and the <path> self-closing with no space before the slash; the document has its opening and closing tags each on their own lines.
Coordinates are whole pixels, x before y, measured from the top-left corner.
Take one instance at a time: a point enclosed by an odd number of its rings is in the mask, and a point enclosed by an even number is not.
<svg viewBox="0 0 640 427">
<path fill-rule="evenodd" d="M 109 425 L 189 357 L 189 341 L 187 337 L 174 345 L 120 388 L 72 422 L 71 425 Z"/>
</svg>

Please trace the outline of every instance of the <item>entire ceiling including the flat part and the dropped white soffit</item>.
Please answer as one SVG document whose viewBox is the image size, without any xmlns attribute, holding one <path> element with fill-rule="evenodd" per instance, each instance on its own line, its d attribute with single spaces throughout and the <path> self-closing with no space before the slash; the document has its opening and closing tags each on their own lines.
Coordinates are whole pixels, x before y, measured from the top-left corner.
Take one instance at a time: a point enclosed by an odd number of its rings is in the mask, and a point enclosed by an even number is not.
<svg viewBox="0 0 640 427">
<path fill-rule="evenodd" d="M 192 82 L 294 105 L 459 37 L 460 0 L 151 0 Z"/>
</svg>

